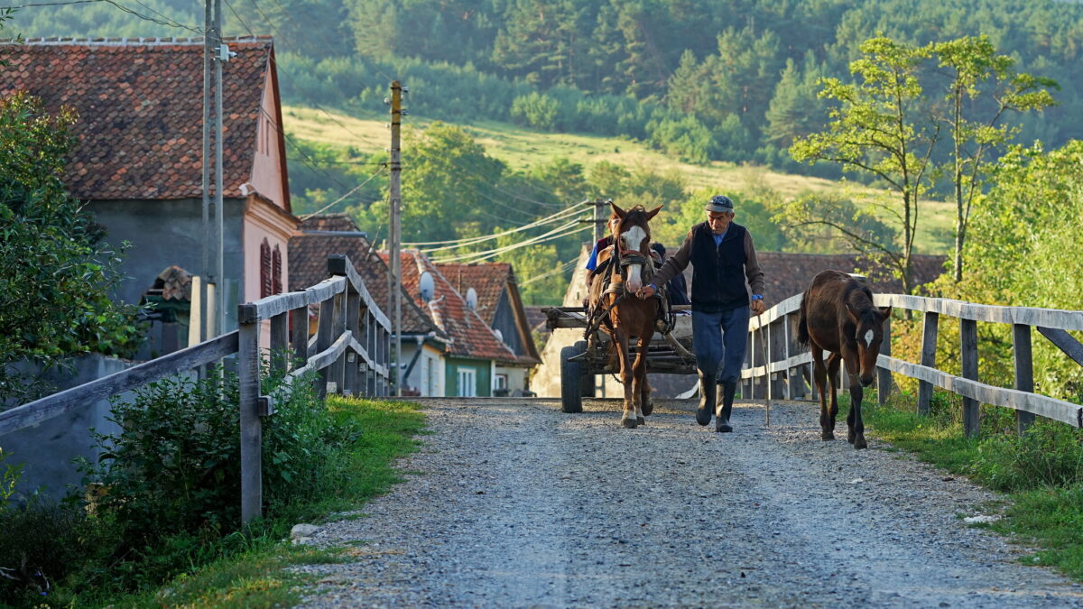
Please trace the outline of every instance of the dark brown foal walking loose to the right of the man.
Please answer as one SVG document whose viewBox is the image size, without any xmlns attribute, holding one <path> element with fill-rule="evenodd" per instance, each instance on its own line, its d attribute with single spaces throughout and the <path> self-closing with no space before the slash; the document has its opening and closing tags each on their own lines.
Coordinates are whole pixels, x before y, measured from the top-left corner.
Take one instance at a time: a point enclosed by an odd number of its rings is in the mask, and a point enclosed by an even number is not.
<svg viewBox="0 0 1083 609">
<path fill-rule="evenodd" d="M 867 448 L 865 426 L 861 422 L 862 387 L 872 385 L 876 355 L 884 339 L 884 321 L 891 315 L 890 307 L 873 304 L 873 293 L 861 280 L 841 271 L 822 271 L 801 297 L 797 340 L 808 345 L 817 390 L 820 392 L 820 427 L 824 440 L 835 439 L 835 415 L 838 401 L 839 360 L 846 362 L 850 377 L 850 414 L 846 417 L 849 431 L 846 440 L 854 449 Z M 823 352 L 831 357 L 824 367 Z M 831 377 L 831 409 L 827 409 L 827 377 Z"/>
</svg>

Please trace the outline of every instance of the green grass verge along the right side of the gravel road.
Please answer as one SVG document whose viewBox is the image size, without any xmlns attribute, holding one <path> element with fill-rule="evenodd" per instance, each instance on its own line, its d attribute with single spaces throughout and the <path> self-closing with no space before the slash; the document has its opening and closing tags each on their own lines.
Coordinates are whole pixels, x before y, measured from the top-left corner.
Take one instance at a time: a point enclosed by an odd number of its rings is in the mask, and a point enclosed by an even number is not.
<svg viewBox="0 0 1083 609">
<path fill-rule="evenodd" d="M 1083 581 L 1083 436 L 1057 422 L 1039 422 L 1022 437 L 966 438 L 952 402 L 940 397 L 922 416 L 913 410 L 913 396 L 895 396 L 884 407 L 865 402 L 862 418 L 866 433 L 1006 493 L 1002 518 L 989 528 L 1034 548 L 1021 562 L 1051 566 Z M 839 396 L 839 411 L 845 419 L 848 396 Z M 1004 416 L 1003 410 L 983 406 L 983 424 Z"/>
</svg>

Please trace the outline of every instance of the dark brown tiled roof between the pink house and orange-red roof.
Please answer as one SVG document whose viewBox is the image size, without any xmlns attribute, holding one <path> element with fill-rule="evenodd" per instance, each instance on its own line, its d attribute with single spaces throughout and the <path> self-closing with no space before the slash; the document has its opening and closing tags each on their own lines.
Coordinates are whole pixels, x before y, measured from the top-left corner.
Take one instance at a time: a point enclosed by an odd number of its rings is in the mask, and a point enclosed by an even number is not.
<svg viewBox="0 0 1083 609">
<path fill-rule="evenodd" d="M 373 251 L 371 244 L 357 234 L 334 235 L 326 232 L 327 226 L 338 226 L 339 232 L 356 233 L 357 226 L 352 220 L 315 216 L 301 223 L 301 232 L 289 239 L 289 288 L 304 289 L 327 278 L 327 257 L 331 254 L 344 254 L 350 257 L 357 274 L 365 282 L 365 287 L 376 300 L 376 303 L 389 314 L 388 306 L 388 265 Z M 321 231 L 305 233 L 304 231 Z M 406 291 L 403 291 L 403 334 L 428 334 L 435 332 L 438 336 L 446 335 L 439 328 L 427 313 L 417 308 Z"/>
</svg>

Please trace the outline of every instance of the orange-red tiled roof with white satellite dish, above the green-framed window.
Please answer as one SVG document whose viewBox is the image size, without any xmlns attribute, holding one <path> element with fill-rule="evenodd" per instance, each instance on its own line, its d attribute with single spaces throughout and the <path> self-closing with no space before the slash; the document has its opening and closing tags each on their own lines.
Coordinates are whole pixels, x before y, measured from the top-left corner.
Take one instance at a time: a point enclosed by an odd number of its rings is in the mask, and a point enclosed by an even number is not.
<svg viewBox="0 0 1083 609">
<path fill-rule="evenodd" d="M 436 325 L 452 338 L 452 344 L 447 346 L 449 355 L 518 363 L 516 354 L 496 337 L 475 311 L 467 307 L 466 299 L 455 289 L 454 284 L 423 254 L 408 250 L 401 256 L 403 287 L 407 294 L 415 296 L 415 304 L 429 309 Z M 380 257 L 388 260 L 390 255 L 381 251 Z M 433 298 L 428 303 L 421 300 L 418 289 L 420 274 L 425 271 L 432 275 L 435 287 Z"/>
</svg>

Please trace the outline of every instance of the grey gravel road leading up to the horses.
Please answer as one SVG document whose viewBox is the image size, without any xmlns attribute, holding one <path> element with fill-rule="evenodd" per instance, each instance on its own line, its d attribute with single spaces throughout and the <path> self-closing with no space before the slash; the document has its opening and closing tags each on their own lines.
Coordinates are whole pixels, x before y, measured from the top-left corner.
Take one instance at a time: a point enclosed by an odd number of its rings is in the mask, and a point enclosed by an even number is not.
<svg viewBox="0 0 1083 609">
<path fill-rule="evenodd" d="M 820 440 L 809 404 L 428 401 L 407 481 L 314 543 L 351 561 L 305 607 L 1083 607 L 1083 587 L 964 523 L 997 495 L 875 438 Z"/>
</svg>

